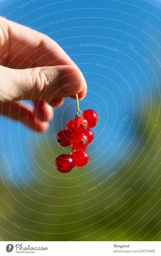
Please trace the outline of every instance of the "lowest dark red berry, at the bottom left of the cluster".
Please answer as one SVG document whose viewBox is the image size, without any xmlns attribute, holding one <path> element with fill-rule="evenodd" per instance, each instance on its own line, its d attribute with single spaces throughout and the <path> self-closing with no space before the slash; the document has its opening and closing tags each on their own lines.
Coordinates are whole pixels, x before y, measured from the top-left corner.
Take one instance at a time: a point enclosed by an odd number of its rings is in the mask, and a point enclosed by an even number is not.
<svg viewBox="0 0 161 256">
<path fill-rule="evenodd" d="M 70 172 L 74 163 L 70 155 L 62 154 L 56 158 L 55 167 L 59 172 Z"/>
</svg>

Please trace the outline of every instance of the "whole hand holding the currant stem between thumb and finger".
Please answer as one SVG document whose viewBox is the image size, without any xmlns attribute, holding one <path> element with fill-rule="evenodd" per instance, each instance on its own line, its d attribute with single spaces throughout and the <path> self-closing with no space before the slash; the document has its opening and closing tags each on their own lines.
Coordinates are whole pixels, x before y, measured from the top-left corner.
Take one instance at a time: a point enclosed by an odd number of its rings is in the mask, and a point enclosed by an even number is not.
<svg viewBox="0 0 161 256">
<path fill-rule="evenodd" d="M 39 132 L 49 128 L 53 107 L 87 85 L 64 50 L 48 36 L 0 17 L 0 112 Z M 31 100 L 34 107 L 18 100 Z"/>
</svg>

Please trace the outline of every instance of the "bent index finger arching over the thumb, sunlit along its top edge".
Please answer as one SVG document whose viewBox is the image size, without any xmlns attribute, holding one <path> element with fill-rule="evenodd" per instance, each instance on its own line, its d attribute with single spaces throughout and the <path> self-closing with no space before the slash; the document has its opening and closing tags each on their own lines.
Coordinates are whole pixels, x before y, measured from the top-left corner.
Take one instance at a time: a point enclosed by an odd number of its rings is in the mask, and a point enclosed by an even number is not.
<svg viewBox="0 0 161 256">
<path fill-rule="evenodd" d="M 81 76 L 84 97 L 87 84 L 83 74 L 65 51 L 43 33 L 0 17 L 0 56 L 8 68 L 30 68 L 53 65 L 71 65 Z"/>
</svg>

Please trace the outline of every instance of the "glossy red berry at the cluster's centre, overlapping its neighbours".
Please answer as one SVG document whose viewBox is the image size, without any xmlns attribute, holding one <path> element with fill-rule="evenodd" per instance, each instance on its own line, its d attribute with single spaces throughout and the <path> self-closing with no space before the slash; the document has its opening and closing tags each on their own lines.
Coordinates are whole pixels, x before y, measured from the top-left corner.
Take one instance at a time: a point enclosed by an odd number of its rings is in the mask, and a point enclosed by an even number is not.
<svg viewBox="0 0 161 256">
<path fill-rule="evenodd" d="M 88 146 L 88 139 L 84 133 L 78 132 L 71 137 L 71 147 L 73 149 L 85 149 Z"/>
</svg>

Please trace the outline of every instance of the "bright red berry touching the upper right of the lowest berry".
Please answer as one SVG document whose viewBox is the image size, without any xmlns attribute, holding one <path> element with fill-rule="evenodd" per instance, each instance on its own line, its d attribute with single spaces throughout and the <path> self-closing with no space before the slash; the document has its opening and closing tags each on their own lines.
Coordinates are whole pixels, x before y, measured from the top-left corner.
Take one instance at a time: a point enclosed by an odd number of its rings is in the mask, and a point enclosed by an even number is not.
<svg viewBox="0 0 161 256">
<path fill-rule="evenodd" d="M 85 150 L 76 150 L 76 152 L 73 151 L 72 159 L 76 166 L 82 167 L 88 163 L 89 156 Z"/>
</svg>

